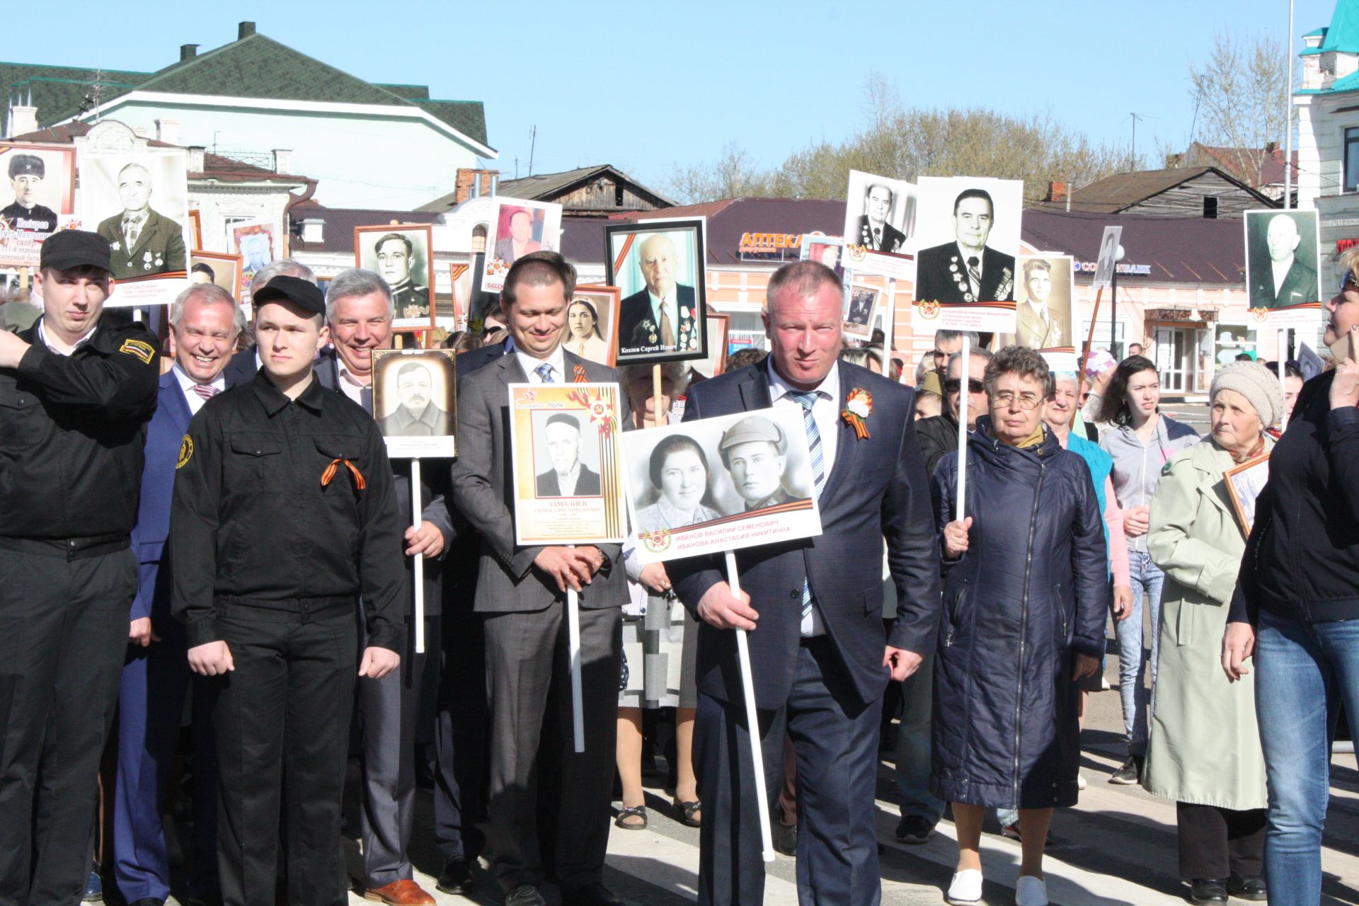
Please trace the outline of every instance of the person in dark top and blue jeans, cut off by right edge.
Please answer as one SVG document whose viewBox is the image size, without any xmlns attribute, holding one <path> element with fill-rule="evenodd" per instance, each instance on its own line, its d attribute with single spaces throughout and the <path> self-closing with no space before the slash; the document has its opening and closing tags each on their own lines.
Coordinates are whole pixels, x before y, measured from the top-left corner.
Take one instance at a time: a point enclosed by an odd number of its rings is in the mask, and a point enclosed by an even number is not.
<svg viewBox="0 0 1359 906">
<path fill-rule="evenodd" d="M 1321 899 L 1336 714 L 1359 714 L 1359 249 L 1340 266 L 1324 338 L 1336 367 L 1303 384 L 1269 455 L 1222 640 L 1229 679 L 1254 663 L 1275 903 Z"/>
</svg>

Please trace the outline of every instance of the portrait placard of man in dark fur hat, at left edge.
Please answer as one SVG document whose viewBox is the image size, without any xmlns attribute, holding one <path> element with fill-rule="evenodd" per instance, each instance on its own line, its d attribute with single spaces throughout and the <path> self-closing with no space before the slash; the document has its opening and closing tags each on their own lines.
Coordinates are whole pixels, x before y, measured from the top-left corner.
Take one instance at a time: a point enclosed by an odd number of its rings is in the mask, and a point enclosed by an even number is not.
<svg viewBox="0 0 1359 906">
<path fill-rule="evenodd" d="M 42 240 L 75 217 L 75 148 L 0 141 L 0 268 L 37 268 Z"/>
</svg>

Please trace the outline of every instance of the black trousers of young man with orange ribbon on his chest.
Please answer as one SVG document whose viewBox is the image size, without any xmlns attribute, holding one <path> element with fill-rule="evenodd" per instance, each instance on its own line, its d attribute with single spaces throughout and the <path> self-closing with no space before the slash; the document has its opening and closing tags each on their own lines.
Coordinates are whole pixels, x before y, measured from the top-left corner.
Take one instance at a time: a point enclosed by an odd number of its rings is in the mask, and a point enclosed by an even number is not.
<svg viewBox="0 0 1359 906">
<path fill-rule="evenodd" d="M 217 617 L 235 662 L 234 671 L 215 678 L 220 685 L 213 713 L 217 873 L 224 906 L 273 905 L 280 804 L 287 808 L 289 906 L 348 901 L 340 800 L 359 628 L 355 614 L 345 611 L 298 621 L 295 614 L 249 607 Z"/>
</svg>

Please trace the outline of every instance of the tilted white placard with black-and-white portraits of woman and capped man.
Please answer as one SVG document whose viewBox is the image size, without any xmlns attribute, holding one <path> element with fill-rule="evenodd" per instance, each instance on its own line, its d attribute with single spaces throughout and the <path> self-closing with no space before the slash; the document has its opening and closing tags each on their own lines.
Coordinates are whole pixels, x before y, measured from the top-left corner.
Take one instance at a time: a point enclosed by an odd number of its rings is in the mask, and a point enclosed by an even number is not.
<svg viewBox="0 0 1359 906">
<path fill-rule="evenodd" d="M 821 534 L 802 414 L 772 406 L 622 436 L 640 562 Z"/>
</svg>

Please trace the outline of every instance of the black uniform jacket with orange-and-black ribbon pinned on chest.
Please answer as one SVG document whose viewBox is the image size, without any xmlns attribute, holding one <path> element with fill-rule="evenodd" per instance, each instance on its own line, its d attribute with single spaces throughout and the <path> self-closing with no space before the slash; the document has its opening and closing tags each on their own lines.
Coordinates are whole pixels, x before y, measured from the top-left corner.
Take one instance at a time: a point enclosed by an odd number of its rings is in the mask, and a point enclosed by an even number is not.
<svg viewBox="0 0 1359 906">
<path fill-rule="evenodd" d="M 402 535 L 372 417 L 317 379 L 288 399 L 261 371 L 189 422 L 170 505 L 171 610 L 193 647 L 220 638 L 224 607 L 306 618 L 361 595 L 368 644 L 401 652 Z"/>
</svg>

